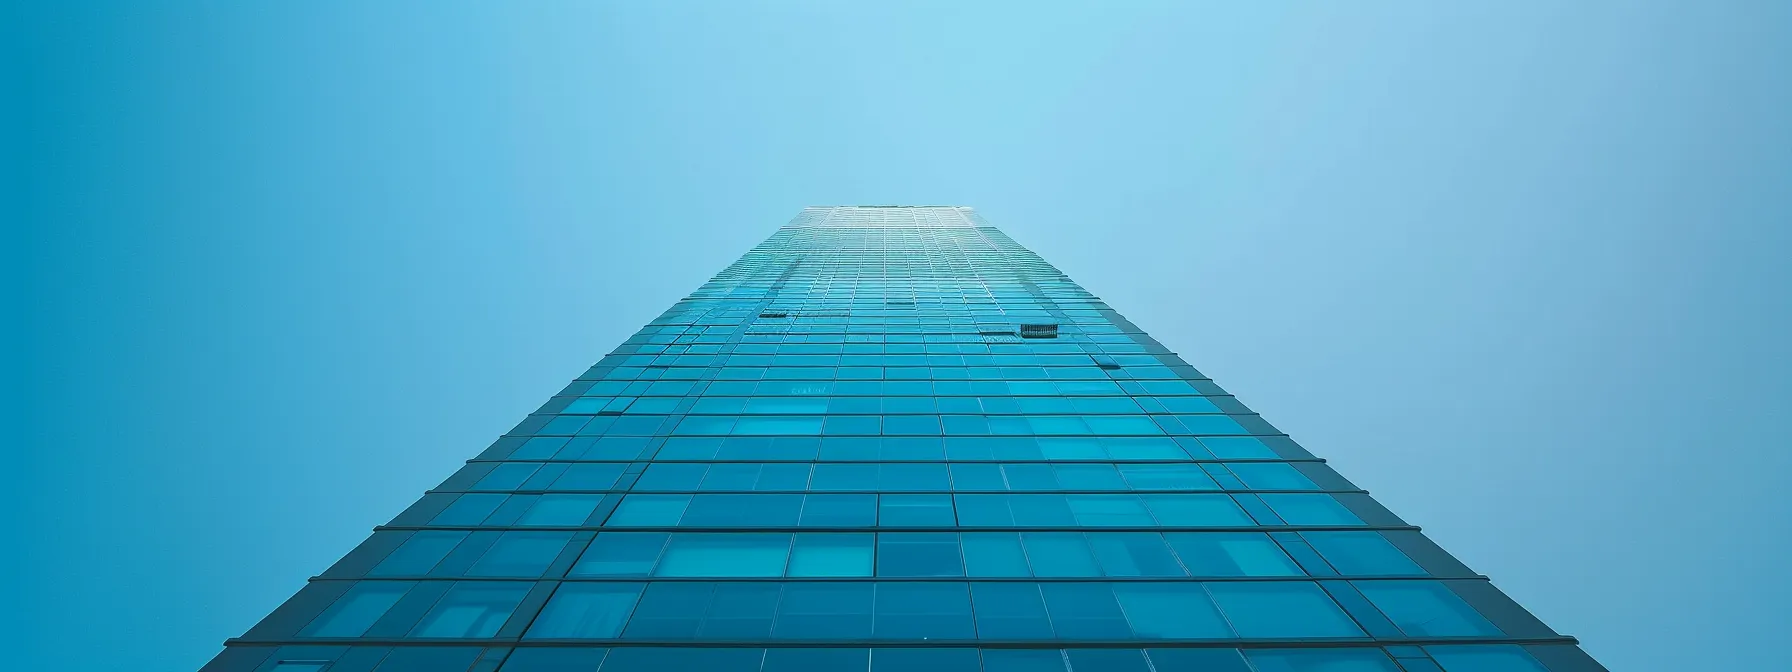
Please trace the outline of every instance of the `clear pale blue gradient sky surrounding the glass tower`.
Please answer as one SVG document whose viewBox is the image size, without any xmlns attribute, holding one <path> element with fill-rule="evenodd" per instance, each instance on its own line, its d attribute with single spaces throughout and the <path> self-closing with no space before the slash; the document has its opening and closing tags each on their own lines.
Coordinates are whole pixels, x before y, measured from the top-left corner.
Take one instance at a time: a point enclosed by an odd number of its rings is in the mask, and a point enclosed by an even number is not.
<svg viewBox="0 0 1792 672">
<path fill-rule="evenodd" d="M 1613 670 L 1785 668 L 1792 4 L 45 5 L 11 668 L 199 667 L 860 202 L 977 206 Z"/>
</svg>

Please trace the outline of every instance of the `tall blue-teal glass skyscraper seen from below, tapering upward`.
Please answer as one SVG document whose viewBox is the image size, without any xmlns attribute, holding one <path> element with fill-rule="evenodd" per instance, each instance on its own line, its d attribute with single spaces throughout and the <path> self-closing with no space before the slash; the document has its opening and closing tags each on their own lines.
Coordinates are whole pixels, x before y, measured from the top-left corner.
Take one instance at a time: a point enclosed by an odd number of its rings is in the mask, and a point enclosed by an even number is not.
<svg viewBox="0 0 1792 672">
<path fill-rule="evenodd" d="M 969 208 L 808 208 L 204 672 L 1593 672 Z"/>
</svg>

